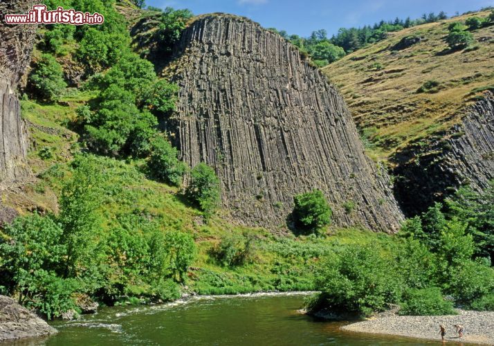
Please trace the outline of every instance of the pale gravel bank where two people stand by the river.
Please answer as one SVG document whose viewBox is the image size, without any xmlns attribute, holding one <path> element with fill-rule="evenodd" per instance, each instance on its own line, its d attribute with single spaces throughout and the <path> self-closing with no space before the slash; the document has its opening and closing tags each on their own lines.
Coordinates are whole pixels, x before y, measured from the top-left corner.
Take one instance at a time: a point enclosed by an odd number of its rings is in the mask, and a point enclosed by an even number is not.
<svg viewBox="0 0 494 346">
<path fill-rule="evenodd" d="M 378 316 L 342 327 L 346 331 L 370 334 L 408 336 L 441 340 L 439 325 L 446 328 L 446 341 L 494 345 L 494 311 L 458 310 L 456 316 Z M 465 332 L 459 339 L 453 325 L 463 325 Z"/>
</svg>

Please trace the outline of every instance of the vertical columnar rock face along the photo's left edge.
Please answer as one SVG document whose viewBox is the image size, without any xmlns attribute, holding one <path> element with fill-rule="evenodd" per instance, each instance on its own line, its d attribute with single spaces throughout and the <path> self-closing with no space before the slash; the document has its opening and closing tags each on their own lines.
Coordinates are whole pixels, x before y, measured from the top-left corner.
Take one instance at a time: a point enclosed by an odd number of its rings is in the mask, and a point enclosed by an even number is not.
<svg viewBox="0 0 494 346">
<path fill-rule="evenodd" d="M 4 24 L 3 15 L 26 13 L 33 1 L 0 2 L 0 183 L 21 180 L 28 175 L 26 127 L 15 89 L 31 57 L 35 26 Z"/>
</svg>

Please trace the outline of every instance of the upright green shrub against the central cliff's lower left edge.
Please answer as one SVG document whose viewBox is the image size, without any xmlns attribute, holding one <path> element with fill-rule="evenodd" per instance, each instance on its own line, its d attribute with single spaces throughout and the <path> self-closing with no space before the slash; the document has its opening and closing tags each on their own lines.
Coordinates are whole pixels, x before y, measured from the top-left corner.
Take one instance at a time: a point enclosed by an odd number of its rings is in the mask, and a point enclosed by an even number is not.
<svg viewBox="0 0 494 346">
<path fill-rule="evenodd" d="M 219 179 L 214 170 L 205 163 L 196 165 L 190 174 L 186 190 L 187 198 L 208 216 L 219 206 Z"/>
</svg>

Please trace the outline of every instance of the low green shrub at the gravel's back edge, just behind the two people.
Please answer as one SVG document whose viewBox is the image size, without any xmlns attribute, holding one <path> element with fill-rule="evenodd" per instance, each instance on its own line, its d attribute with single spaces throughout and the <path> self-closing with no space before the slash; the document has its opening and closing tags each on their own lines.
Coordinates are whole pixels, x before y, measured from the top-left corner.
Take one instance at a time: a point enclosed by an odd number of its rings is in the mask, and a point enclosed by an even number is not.
<svg viewBox="0 0 494 346">
<path fill-rule="evenodd" d="M 400 315 L 439 316 L 455 313 L 450 300 L 445 300 L 441 289 L 408 289 L 401 300 Z"/>
</svg>

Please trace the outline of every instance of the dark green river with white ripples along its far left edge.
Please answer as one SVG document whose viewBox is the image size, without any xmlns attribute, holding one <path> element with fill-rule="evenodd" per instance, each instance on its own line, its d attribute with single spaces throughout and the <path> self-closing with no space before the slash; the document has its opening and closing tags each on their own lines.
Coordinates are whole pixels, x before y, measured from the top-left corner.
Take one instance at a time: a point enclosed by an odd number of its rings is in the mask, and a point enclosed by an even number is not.
<svg viewBox="0 0 494 346">
<path fill-rule="evenodd" d="M 427 341 L 352 334 L 345 322 L 301 314 L 300 293 L 199 296 L 170 304 L 102 308 L 55 321 L 59 333 L 24 345 L 430 345 Z M 437 344 L 437 343 L 434 343 Z"/>
</svg>

